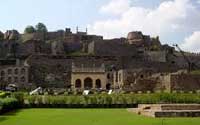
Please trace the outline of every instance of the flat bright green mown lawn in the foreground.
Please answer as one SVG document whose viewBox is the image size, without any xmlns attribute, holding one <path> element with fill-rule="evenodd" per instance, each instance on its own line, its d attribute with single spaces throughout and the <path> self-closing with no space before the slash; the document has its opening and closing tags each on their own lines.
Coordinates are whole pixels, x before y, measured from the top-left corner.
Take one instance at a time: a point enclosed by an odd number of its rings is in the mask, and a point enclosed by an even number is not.
<svg viewBox="0 0 200 125">
<path fill-rule="evenodd" d="M 126 109 L 24 109 L 0 116 L 0 125 L 200 125 L 200 118 L 148 118 Z"/>
</svg>

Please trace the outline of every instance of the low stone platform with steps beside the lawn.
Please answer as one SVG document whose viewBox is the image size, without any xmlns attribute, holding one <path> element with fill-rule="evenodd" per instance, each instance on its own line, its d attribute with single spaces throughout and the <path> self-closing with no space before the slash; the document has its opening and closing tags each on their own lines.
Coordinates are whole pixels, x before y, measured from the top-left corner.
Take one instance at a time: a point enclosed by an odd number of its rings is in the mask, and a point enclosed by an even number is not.
<svg viewBox="0 0 200 125">
<path fill-rule="evenodd" d="M 200 117 L 200 104 L 141 104 L 132 111 L 150 117 Z"/>
</svg>

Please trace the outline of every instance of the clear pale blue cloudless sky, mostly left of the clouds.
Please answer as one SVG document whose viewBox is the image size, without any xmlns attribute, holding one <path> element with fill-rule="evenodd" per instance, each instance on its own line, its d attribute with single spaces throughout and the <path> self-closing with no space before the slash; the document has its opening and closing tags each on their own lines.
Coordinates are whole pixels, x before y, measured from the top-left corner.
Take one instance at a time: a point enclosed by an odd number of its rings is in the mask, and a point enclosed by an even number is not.
<svg viewBox="0 0 200 125">
<path fill-rule="evenodd" d="M 140 0 L 137 6 L 154 7 L 163 0 Z M 45 23 L 50 30 L 64 27 L 85 29 L 87 24 L 107 16 L 99 8 L 109 0 L 1 0 L 0 30 L 18 29 L 23 32 L 27 25 Z"/>
</svg>

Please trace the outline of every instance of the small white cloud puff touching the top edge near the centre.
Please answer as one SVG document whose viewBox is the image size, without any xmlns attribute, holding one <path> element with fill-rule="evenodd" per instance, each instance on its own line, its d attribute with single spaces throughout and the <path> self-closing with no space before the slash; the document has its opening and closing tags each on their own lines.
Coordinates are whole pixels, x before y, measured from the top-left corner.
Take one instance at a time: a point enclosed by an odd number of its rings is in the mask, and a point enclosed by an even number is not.
<svg viewBox="0 0 200 125">
<path fill-rule="evenodd" d="M 102 13 L 119 15 L 126 12 L 130 7 L 130 0 L 111 0 L 107 5 L 101 7 Z"/>
</svg>

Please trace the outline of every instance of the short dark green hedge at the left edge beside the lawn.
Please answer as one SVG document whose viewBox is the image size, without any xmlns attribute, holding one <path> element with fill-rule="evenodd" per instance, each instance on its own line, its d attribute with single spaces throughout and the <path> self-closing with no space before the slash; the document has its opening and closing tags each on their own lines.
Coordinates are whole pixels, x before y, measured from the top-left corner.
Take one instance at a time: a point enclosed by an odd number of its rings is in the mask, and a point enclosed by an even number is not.
<svg viewBox="0 0 200 125">
<path fill-rule="evenodd" d="M 15 98 L 0 98 L 0 114 L 19 108 L 18 100 Z"/>
</svg>

